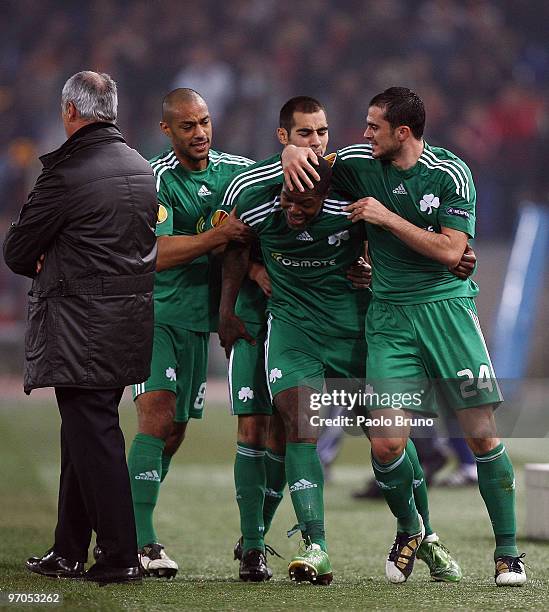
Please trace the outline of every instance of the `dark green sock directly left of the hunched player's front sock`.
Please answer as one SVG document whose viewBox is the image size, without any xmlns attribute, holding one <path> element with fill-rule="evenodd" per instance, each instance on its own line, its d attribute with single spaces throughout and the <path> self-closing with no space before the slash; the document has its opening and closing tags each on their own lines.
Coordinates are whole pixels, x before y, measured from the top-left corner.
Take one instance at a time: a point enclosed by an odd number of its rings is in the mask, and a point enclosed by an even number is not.
<svg viewBox="0 0 549 612">
<path fill-rule="evenodd" d="M 243 552 L 265 549 L 263 500 L 265 499 L 265 449 L 238 442 L 234 461 L 236 501 L 240 511 Z"/>
</svg>

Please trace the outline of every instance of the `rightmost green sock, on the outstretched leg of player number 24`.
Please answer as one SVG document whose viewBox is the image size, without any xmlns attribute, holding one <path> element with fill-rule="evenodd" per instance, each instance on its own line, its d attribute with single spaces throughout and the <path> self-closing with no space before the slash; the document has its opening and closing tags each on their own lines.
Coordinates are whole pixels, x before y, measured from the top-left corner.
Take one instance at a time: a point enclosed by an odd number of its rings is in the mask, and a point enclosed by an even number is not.
<svg viewBox="0 0 549 612">
<path fill-rule="evenodd" d="M 503 443 L 485 455 L 475 455 L 478 488 L 496 536 L 494 559 L 518 556 L 515 520 L 515 474 Z"/>
</svg>

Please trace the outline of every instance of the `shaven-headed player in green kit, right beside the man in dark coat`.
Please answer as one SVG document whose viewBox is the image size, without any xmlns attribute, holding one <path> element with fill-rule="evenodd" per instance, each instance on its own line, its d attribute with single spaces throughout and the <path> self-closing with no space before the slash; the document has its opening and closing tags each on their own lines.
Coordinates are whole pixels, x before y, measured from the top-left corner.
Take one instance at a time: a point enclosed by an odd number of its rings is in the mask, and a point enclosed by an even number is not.
<svg viewBox="0 0 549 612">
<path fill-rule="evenodd" d="M 153 525 L 166 478 L 189 419 L 200 419 L 206 393 L 208 339 L 217 327 L 211 253 L 249 229 L 234 216 L 205 219 L 228 181 L 252 161 L 211 149 L 212 123 L 196 91 L 175 89 L 162 101 L 160 128 L 171 141 L 150 160 L 158 192 L 155 330 L 150 377 L 134 385 L 138 433 L 128 465 L 143 571 L 174 576 L 178 565 L 159 544 Z"/>
</svg>

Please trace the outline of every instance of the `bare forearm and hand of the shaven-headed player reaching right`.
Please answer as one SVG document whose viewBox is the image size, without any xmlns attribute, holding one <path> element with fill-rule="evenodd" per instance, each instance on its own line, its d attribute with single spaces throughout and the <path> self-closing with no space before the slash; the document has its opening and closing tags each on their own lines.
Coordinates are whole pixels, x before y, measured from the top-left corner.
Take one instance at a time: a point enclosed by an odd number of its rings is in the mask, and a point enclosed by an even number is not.
<svg viewBox="0 0 549 612">
<path fill-rule="evenodd" d="M 234 211 L 224 223 L 196 236 L 159 236 L 156 271 L 161 272 L 189 263 L 229 242 L 247 243 L 254 236 L 253 230 L 237 219 Z"/>
</svg>

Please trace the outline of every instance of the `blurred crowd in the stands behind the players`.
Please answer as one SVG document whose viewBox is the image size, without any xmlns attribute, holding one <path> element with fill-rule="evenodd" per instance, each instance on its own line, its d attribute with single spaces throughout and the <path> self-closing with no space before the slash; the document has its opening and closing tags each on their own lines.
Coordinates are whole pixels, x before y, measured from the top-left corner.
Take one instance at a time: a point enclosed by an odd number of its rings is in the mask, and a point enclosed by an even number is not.
<svg viewBox="0 0 549 612">
<path fill-rule="evenodd" d="M 166 146 L 160 101 L 175 87 L 207 100 L 215 148 L 260 159 L 277 150 L 291 96 L 326 106 L 335 149 L 362 140 L 372 95 L 408 86 L 426 102 L 426 139 L 473 171 L 479 238 L 508 238 L 521 200 L 549 201 L 544 0 L 3 0 L 2 11 L 3 232 L 37 155 L 64 140 L 60 90 L 82 69 L 118 82 L 119 124 L 144 156 Z M 21 286 L 0 270 L 0 320 L 20 316 Z"/>
</svg>

